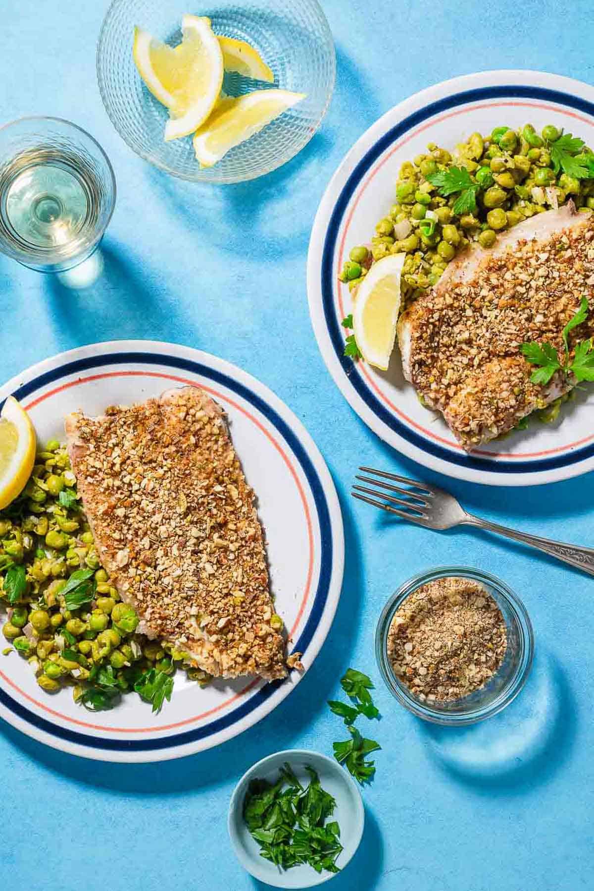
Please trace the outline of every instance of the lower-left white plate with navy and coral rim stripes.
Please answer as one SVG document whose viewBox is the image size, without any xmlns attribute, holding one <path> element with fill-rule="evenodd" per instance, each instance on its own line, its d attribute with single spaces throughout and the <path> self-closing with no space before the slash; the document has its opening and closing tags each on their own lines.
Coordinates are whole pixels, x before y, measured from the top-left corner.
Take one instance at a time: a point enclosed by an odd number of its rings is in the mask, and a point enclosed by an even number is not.
<svg viewBox="0 0 594 891">
<path fill-rule="evenodd" d="M 271 590 L 290 650 L 312 666 L 330 630 L 344 565 L 344 537 L 330 472 L 300 421 L 281 400 L 234 365 L 190 347 L 117 340 L 80 347 L 34 365 L 0 388 L 28 411 L 40 442 L 64 440 L 63 418 L 82 409 L 130 405 L 175 386 L 204 388 L 222 405 L 233 445 L 257 496 Z M 159 714 L 136 694 L 110 711 L 77 705 L 71 688 L 50 695 L 18 653 L 0 657 L 0 716 L 53 748 L 105 761 L 161 761 L 211 748 L 251 727 L 295 688 L 282 682 L 219 681 L 201 689 L 175 675 Z"/>
</svg>

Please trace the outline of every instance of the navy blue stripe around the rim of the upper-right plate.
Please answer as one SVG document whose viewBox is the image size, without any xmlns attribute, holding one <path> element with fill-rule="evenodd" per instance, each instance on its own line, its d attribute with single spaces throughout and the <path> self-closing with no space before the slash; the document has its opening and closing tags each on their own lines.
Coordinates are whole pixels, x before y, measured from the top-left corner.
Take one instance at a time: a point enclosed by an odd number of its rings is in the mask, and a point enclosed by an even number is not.
<svg viewBox="0 0 594 891">
<path fill-rule="evenodd" d="M 330 224 L 326 239 L 324 241 L 324 249 L 321 259 L 321 297 L 326 325 L 330 332 L 330 339 L 334 351 L 338 356 L 346 380 L 354 387 L 363 402 L 378 417 L 380 421 L 394 430 L 398 436 L 406 439 L 412 446 L 416 446 L 421 452 L 432 454 L 435 458 L 452 464 L 460 464 L 462 467 L 469 467 L 473 470 L 488 470 L 491 473 L 539 473 L 542 470 L 555 470 L 560 467 L 567 467 L 575 462 L 583 461 L 590 458 L 594 454 L 594 444 L 585 446 L 582 449 L 576 449 L 573 452 L 557 455 L 550 458 L 543 458 L 539 461 L 492 461 L 486 458 L 479 458 L 476 455 L 459 454 L 452 452 L 443 446 L 437 445 L 435 442 L 426 437 L 419 436 L 418 433 L 411 429 L 402 421 L 399 421 L 390 410 L 383 405 L 368 388 L 361 374 L 356 370 L 356 364 L 344 356 L 345 341 L 343 331 L 341 330 L 334 306 L 333 298 L 333 274 L 332 265 L 338 239 L 338 230 L 345 215 L 349 201 L 353 197 L 354 191 L 361 183 L 363 176 L 370 170 L 375 161 L 386 151 L 396 140 L 400 139 L 412 127 L 417 127 L 422 121 L 432 118 L 434 115 L 448 109 L 457 108 L 460 105 L 467 105 L 471 102 L 481 102 L 490 99 L 536 99 L 539 102 L 555 102 L 558 105 L 566 105 L 570 108 L 583 111 L 584 113 L 594 117 L 594 104 L 581 99 L 579 96 L 573 96 L 567 93 L 560 93 L 557 90 L 545 89 L 541 86 L 485 86 L 476 90 L 465 90 L 452 96 L 446 96 L 438 102 L 432 102 L 425 108 L 419 109 L 404 118 L 395 127 L 392 127 L 386 134 L 378 139 L 370 148 L 370 151 L 364 155 L 354 168 L 353 173 L 346 180 L 346 184 L 340 192 L 338 201 L 332 211 Z"/>
</svg>

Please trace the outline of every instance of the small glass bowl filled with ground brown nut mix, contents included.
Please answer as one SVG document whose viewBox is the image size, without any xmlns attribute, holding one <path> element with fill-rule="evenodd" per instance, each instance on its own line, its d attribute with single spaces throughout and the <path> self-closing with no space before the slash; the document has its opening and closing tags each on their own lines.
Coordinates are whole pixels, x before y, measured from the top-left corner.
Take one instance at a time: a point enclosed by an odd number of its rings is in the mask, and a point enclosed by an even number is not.
<svg viewBox="0 0 594 891">
<path fill-rule="evenodd" d="M 388 689 L 433 723 L 496 715 L 522 690 L 534 637 L 524 604 L 479 569 L 450 566 L 409 579 L 387 602 L 376 657 Z"/>
</svg>

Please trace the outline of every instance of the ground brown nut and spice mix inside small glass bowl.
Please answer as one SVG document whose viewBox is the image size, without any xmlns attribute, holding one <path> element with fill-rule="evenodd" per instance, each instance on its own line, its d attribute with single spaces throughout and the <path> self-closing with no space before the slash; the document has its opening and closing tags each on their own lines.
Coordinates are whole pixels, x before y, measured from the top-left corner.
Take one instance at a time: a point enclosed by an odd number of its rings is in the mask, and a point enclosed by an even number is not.
<svg viewBox="0 0 594 891">
<path fill-rule="evenodd" d="M 438 578 L 409 594 L 387 638 L 393 670 L 419 699 L 451 702 L 478 690 L 508 646 L 505 621 L 482 584 Z"/>
</svg>

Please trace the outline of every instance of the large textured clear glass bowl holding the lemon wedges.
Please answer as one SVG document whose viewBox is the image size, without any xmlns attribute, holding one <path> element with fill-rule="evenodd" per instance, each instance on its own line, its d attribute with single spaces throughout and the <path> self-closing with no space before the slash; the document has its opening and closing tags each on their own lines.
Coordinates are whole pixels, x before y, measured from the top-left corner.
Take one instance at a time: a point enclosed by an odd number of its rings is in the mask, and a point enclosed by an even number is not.
<svg viewBox="0 0 594 891">
<path fill-rule="evenodd" d="M 307 94 L 207 169 L 199 167 L 191 136 L 163 141 L 167 109 L 144 86 L 132 58 L 134 25 L 175 45 L 182 39 L 185 12 L 207 15 L 216 34 L 247 40 L 273 69 L 277 86 Z M 217 0 L 203 6 L 187 0 L 113 0 L 97 45 L 99 89 L 118 134 L 151 164 L 197 183 L 239 183 L 293 158 L 320 126 L 335 73 L 330 28 L 316 0 Z"/>
</svg>

